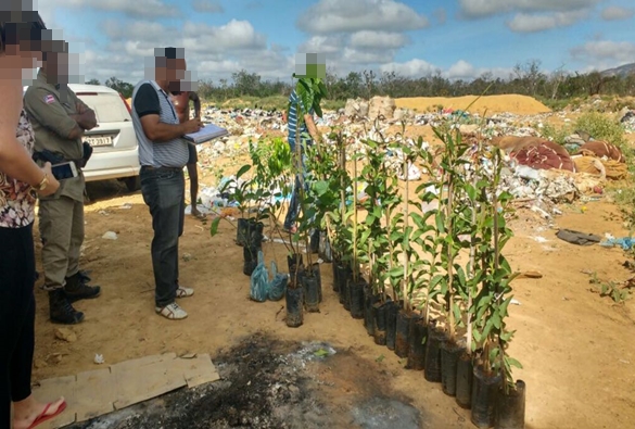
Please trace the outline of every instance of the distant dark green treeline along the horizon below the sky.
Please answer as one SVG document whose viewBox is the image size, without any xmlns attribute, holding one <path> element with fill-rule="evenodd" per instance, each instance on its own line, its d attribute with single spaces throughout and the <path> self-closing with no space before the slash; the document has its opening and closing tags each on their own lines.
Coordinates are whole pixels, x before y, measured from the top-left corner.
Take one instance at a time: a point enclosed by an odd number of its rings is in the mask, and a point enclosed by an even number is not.
<svg viewBox="0 0 635 429">
<path fill-rule="evenodd" d="M 91 79 L 88 84 L 98 84 Z M 106 86 L 118 90 L 128 98 L 132 85 L 111 77 Z M 287 81 L 263 80 L 257 73 L 240 71 L 231 80 L 201 80 L 199 96 L 214 101 L 240 97 L 276 97 L 291 92 L 291 78 Z M 441 73 L 419 78 L 404 77 L 396 73 L 381 75 L 372 71 L 351 72 L 346 76 L 327 73 L 326 86 L 329 100 L 370 98 L 373 96 L 401 97 L 461 97 L 470 94 L 519 93 L 541 100 L 567 100 L 596 94 L 635 96 L 635 73 L 626 76 L 605 76 L 598 72 L 580 74 L 556 71 L 545 73 L 538 61 L 517 64 L 508 78 L 495 78 L 485 73 L 472 80 L 448 79 Z"/>
</svg>

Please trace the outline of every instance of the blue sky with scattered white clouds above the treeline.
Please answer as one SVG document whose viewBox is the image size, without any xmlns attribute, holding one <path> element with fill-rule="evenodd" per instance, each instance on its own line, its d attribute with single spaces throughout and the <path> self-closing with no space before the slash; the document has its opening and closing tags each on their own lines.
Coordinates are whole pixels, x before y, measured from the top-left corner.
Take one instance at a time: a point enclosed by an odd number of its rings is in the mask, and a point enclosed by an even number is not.
<svg viewBox="0 0 635 429">
<path fill-rule="evenodd" d="M 54 3 L 54 5 L 53 5 Z M 198 78 L 244 68 L 288 78 L 297 52 L 327 67 L 507 77 L 517 63 L 587 72 L 635 62 L 633 0 L 39 0 L 82 51 L 86 78 L 131 83 L 161 46 L 186 48 Z"/>
</svg>

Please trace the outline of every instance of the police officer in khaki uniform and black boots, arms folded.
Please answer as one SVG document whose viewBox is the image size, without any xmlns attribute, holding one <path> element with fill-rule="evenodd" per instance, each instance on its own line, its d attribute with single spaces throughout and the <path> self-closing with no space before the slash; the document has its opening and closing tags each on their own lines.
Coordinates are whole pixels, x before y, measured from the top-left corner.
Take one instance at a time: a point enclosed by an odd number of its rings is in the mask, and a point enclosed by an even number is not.
<svg viewBox="0 0 635 429">
<path fill-rule="evenodd" d="M 78 324 L 84 313 L 72 303 L 97 298 L 101 288 L 89 286 L 79 270 L 84 242 L 84 191 L 81 167 L 86 163 L 81 136 L 97 126 L 94 112 L 68 88 L 67 43 L 63 52 L 45 52 L 42 68 L 24 96 L 35 130 L 34 157 L 76 164 L 78 176 L 60 180 L 60 189 L 41 198 L 39 228 L 43 242 L 45 290 L 49 291 L 51 321 Z"/>
</svg>

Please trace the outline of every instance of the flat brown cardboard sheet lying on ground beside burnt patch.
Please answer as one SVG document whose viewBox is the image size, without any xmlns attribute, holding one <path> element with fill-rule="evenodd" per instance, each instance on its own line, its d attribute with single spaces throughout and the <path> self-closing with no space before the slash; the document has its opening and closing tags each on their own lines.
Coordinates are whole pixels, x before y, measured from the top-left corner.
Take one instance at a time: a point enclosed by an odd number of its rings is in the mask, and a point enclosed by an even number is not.
<svg viewBox="0 0 635 429">
<path fill-rule="evenodd" d="M 40 401 L 66 399 L 67 408 L 38 429 L 56 429 L 122 409 L 173 390 L 220 379 L 208 354 L 175 353 L 126 361 L 76 376 L 50 378 L 34 386 Z"/>
</svg>

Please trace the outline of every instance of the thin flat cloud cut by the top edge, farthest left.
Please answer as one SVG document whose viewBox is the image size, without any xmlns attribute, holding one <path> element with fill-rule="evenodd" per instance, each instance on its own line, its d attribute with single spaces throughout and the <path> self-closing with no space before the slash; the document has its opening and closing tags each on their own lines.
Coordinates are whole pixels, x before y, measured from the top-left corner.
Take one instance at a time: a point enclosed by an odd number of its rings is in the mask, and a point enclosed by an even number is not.
<svg viewBox="0 0 635 429">
<path fill-rule="evenodd" d="M 122 12 L 128 16 L 149 17 L 176 17 L 180 16 L 180 10 L 167 3 L 165 0 L 49 0 L 55 7 L 68 7 L 74 9 L 92 8 L 105 12 Z M 43 0 L 40 0 L 43 3 Z"/>
</svg>

